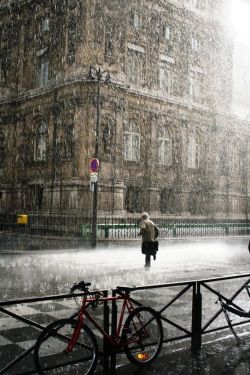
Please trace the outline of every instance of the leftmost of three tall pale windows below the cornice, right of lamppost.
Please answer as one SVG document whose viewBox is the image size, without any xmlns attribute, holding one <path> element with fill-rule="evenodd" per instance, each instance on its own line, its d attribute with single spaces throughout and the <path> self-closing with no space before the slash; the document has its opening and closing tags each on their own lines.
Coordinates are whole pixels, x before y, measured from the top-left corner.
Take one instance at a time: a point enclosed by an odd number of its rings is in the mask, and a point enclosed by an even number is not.
<svg viewBox="0 0 250 375">
<path fill-rule="evenodd" d="M 140 134 L 136 122 L 131 119 L 124 124 L 124 160 L 140 160 Z"/>
</svg>

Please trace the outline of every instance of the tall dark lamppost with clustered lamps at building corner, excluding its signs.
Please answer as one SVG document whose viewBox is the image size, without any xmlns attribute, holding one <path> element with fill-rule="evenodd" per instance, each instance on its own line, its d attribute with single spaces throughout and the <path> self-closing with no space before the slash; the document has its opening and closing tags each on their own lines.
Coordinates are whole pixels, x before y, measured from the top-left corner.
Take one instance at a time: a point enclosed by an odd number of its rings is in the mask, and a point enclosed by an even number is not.
<svg viewBox="0 0 250 375">
<path fill-rule="evenodd" d="M 101 72 L 101 69 L 96 69 L 93 66 L 89 68 L 87 79 L 97 83 L 96 92 L 96 128 L 95 128 L 95 152 L 94 157 L 98 159 L 99 156 L 99 131 L 100 131 L 100 84 L 101 82 L 109 83 L 110 75 L 106 71 Z M 97 237 L 97 202 L 98 202 L 98 178 L 93 182 L 93 212 L 92 212 L 92 236 L 91 246 L 96 247 Z"/>
</svg>

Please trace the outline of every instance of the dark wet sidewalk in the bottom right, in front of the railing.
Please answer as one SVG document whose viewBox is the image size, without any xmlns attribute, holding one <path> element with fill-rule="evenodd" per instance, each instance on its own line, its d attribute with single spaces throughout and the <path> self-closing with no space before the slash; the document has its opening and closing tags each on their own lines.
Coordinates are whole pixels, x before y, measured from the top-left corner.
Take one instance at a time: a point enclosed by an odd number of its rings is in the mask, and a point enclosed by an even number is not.
<svg viewBox="0 0 250 375">
<path fill-rule="evenodd" d="M 203 344 L 199 355 L 190 348 L 162 354 L 154 364 L 138 369 L 133 365 L 118 367 L 117 375 L 250 375 L 250 335 L 241 336 L 240 344 L 233 336 Z M 98 373 L 101 375 L 101 373 Z"/>
</svg>

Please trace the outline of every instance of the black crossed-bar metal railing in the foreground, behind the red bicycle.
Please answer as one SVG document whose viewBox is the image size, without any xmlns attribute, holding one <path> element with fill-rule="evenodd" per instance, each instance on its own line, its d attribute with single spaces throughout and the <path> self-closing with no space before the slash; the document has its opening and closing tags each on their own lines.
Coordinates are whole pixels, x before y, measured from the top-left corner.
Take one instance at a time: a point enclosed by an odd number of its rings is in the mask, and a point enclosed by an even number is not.
<svg viewBox="0 0 250 375">
<path fill-rule="evenodd" d="M 136 288 L 133 292 L 132 301 L 134 301 L 135 305 L 152 306 L 158 311 L 163 324 L 165 348 L 167 348 L 168 343 L 171 342 L 190 340 L 191 350 L 195 353 L 201 348 L 202 338 L 204 338 L 205 335 L 211 333 L 216 335 L 218 332 L 228 329 L 229 327 L 228 324 L 226 324 L 227 321 L 223 314 L 222 307 L 217 303 L 218 298 L 227 302 L 230 301 L 245 310 L 249 309 L 249 294 L 246 293 L 246 287 L 249 286 L 249 283 L 250 274 L 248 273 L 199 281 L 141 286 Z M 115 295 L 114 290 L 112 292 L 105 291 L 105 293 L 106 295 L 109 293 L 112 293 L 113 296 Z M 81 294 L 79 293 L 78 295 L 80 296 Z M 32 321 L 31 318 L 13 312 L 9 307 L 30 303 L 41 304 L 43 301 L 58 301 L 65 298 L 72 298 L 72 295 L 25 298 L 0 302 L 0 312 L 37 328 L 39 333 L 39 330 L 43 329 L 42 325 Z M 102 305 L 101 308 L 103 327 L 105 327 L 106 332 L 112 333 L 116 328 L 117 314 L 119 311 L 116 302 L 112 301 L 110 305 L 107 303 L 106 305 Z M 98 316 L 100 316 L 100 312 Z M 249 323 L 249 319 L 238 318 L 232 323 L 232 326 L 238 327 L 246 323 Z M 117 362 L 120 361 L 119 355 L 121 354 L 117 355 L 116 353 L 106 351 L 105 345 L 100 346 L 100 348 L 102 347 L 104 359 L 103 373 L 113 374 Z M 18 366 L 18 374 L 28 375 L 35 373 L 34 364 L 29 368 L 25 368 L 25 358 L 28 358 L 28 355 L 32 353 L 33 349 L 34 344 L 23 351 L 23 353 L 12 360 L 12 362 L 5 364 L 4 368 L 0 368 L 0 373 L 12 373 L 9 371 L 16 365 Z M 19 363 L 21 360 L 23 364 L 22 368 Z"/>
</svg>

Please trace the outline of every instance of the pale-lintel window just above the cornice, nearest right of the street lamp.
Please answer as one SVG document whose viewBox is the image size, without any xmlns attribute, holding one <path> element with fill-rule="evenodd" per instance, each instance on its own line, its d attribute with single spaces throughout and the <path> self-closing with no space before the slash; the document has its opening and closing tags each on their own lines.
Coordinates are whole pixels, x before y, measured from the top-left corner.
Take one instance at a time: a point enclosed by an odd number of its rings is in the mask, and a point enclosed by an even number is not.
<svg viewBox="0 0 250 375">
<path fill-rule="evenodd" d="M 127 74 L 130 83 L 141 85 L 144 73 L 144 48 L 129 44 Z"/>
</svg>

